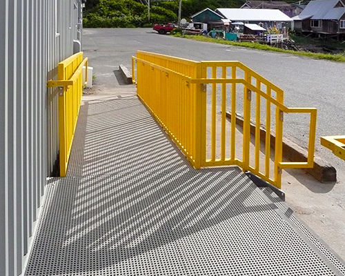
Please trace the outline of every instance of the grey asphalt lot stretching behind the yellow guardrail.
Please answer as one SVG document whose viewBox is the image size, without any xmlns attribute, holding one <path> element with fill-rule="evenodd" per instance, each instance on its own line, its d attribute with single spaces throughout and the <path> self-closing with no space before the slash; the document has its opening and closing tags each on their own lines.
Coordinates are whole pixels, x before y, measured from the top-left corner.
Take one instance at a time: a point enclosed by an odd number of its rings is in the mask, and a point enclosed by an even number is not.
<svg viewBox="0 0 345 276">
<path fill-rule="evenodd" d="M 205 43 L 157 34 L 151 29 L 85 29 L 83 50 L 95 66 L 96 81 L 109 90 L 121 86 L 119 64 L 131 68 L 137 50 L 157 52 L 195 61 L 241 61 L 284 90 L 288 107 L 317 108 L 315 155 L 337 169 L 338 181 L 345 184 L 345 161 L 320 145 L 320 136 L 345 135 L 345 64 Z M 104 66 L 106 64 L 106 66 Z M 296 117 L 284 117 L 284 137 L 306 147 L 308 125 Z"/>
</svg>

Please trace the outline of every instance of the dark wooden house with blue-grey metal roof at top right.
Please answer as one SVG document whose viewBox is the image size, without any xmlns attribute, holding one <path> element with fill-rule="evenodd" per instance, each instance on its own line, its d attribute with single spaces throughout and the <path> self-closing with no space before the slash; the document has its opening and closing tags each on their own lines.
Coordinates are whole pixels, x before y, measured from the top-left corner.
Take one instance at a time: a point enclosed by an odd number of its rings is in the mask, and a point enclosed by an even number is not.
<svg viewBox="0 0 345 276">
<path fill-rule="evenodd" d="M 292 19 L 296 32 L 345 34 L 345 6 L 340 0 L 311 1 Z"/>
</svg>

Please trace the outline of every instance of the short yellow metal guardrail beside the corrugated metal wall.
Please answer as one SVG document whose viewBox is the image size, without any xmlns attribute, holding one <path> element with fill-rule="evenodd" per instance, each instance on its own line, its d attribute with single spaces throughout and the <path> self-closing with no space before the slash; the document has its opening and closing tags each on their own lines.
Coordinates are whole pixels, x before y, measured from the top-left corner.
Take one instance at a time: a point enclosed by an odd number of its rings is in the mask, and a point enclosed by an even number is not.
<svg viewBox="0 0 345 276">
<path fill-rule="evenodd" d="M 86 66 L 86 82 L 82 83 L 83 66 Z M 59 165 L 60 177 L 65 177 L 72 147 L 75 127 L 83 95 L 88 81 L 88 58 L 78 52 L 57 66 L 57 80 L 47 82 L 47 87 L 57 87 L 59 92 Z"/>
</svg>

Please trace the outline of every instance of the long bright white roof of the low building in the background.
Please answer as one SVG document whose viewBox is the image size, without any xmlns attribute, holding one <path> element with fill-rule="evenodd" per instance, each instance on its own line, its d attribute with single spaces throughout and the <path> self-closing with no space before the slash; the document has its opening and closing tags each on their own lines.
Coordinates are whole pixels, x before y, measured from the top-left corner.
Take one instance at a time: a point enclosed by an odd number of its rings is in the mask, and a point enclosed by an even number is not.
<svg viewBox="0 0 345 276">
<path fill-rule="evenodd" d="M 216 12 L 231 21 L 293 21 L 280 10 L 217 8 Z"/>
</svg>

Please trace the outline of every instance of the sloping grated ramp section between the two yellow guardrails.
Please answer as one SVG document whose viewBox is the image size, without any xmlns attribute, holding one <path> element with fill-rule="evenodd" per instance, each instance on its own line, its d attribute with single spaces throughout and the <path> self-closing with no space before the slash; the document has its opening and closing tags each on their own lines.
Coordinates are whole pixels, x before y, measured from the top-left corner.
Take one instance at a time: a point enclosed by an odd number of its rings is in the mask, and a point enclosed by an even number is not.
<svg viewBox="0 0 345 276">
<path fill-rule="evenodd" d="M 138 99 L 88 103 L 68 175 L 111 175 L 191 168 Z M 78 122 L 79 123 L 79 122 Z M 71 169 L 70 169 L 71 168 Z"/>
</svg>

